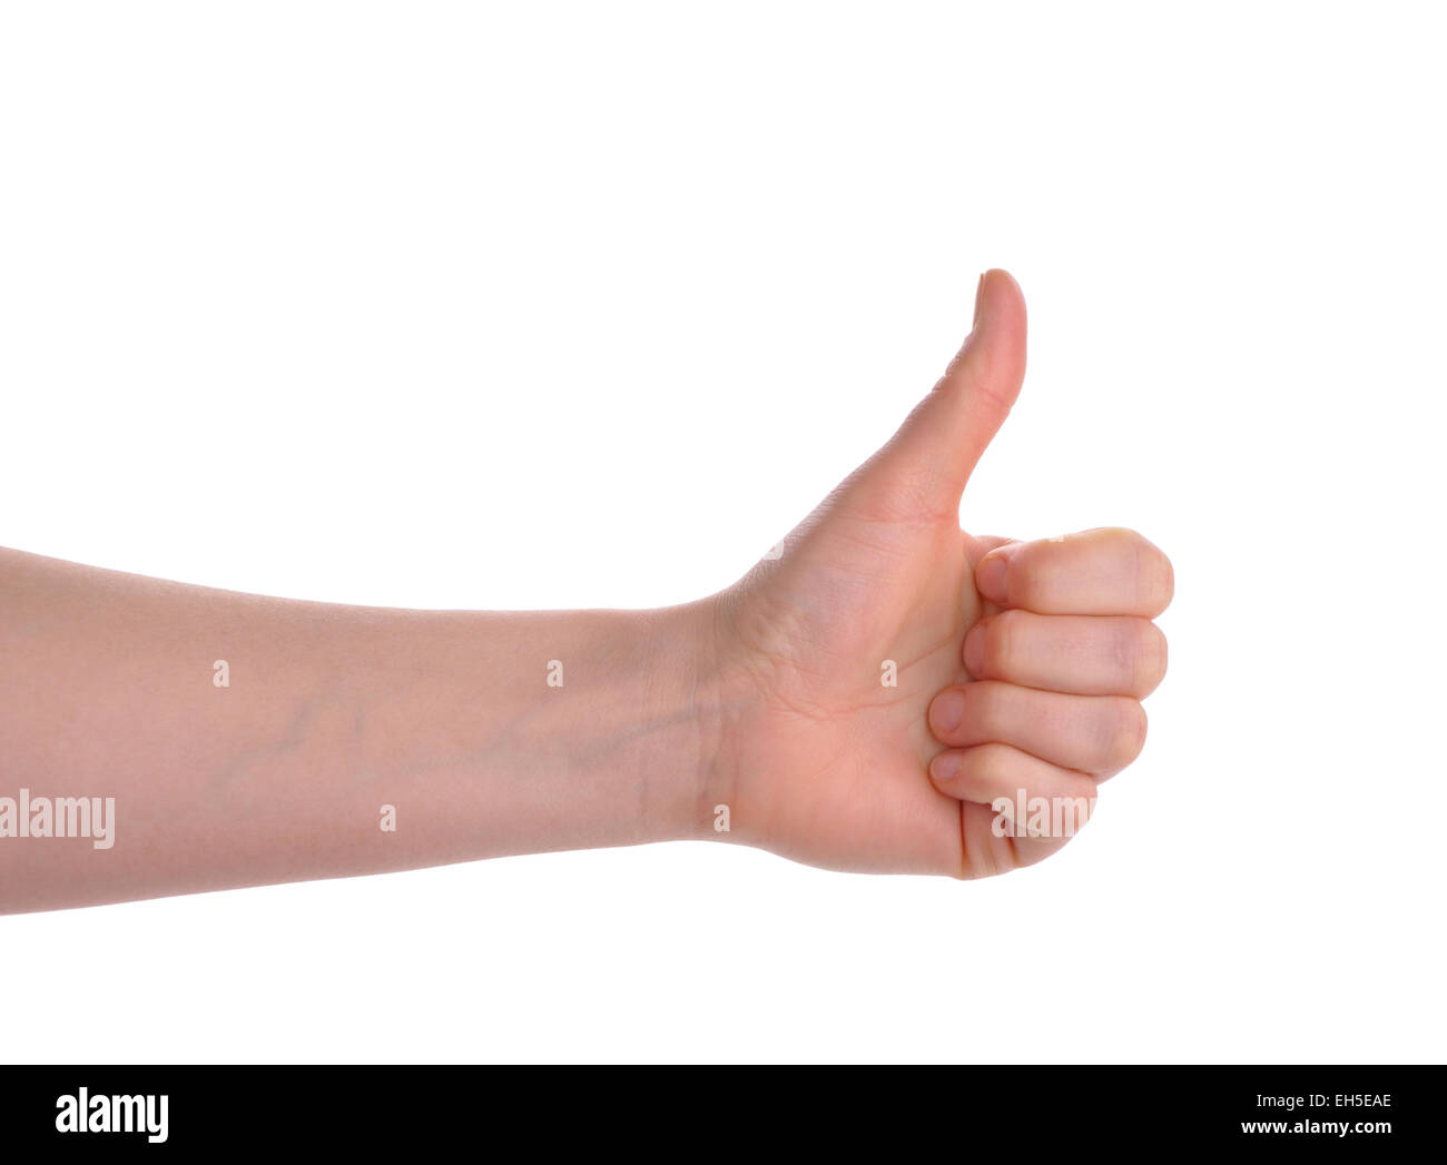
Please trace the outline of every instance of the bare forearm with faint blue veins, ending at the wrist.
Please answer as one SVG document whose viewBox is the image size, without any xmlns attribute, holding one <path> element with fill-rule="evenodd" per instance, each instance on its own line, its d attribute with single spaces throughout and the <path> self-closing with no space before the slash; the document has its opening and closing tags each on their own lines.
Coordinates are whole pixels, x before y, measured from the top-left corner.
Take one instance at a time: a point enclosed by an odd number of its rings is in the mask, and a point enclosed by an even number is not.
<svg viewBox="0 0 1447 1165">
<path fill-rule="evenodd" d="M 0 551 L 0 910 L 708 836 L 712 658 L 706 605 L 333 606 Z M 109 847 L 16 836 L 22 789 L 113 797 Z"/>
</svg>

